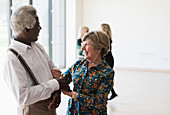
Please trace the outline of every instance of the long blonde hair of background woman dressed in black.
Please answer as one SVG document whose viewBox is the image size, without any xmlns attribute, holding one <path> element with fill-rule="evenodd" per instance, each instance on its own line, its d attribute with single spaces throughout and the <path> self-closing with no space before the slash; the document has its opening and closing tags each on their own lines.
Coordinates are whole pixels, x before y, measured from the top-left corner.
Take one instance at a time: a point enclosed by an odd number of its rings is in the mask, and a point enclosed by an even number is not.
<svg viewBox="0 0 170 115">
<path fill-rule="evenodd" d="M 105 32 L 109 36 L 109 39 L 112 42 L 112 32 L 111 32 L 111 28 L 109 24 L 103 23 L 101 24 L 101 28 L 102 28 L 102 31 Z"/>
</svg>

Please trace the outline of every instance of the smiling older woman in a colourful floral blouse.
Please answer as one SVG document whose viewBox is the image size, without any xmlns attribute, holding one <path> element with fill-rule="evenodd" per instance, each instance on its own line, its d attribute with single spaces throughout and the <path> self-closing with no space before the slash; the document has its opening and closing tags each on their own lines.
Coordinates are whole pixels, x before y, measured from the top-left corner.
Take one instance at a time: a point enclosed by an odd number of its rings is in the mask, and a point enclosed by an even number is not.
<svg viewBox="0 0 170 115">
<path fill-rule="evenodd" d="M 82 41 L 85 57 L 77 61 L 62 77 L 73 81 L 68 115 L 106 115 L 107 96 L 113 87 L 114 71 L 104 61 L 109 50 L 109 38 L 101 31 L 87 33 Z"/>
</svg>

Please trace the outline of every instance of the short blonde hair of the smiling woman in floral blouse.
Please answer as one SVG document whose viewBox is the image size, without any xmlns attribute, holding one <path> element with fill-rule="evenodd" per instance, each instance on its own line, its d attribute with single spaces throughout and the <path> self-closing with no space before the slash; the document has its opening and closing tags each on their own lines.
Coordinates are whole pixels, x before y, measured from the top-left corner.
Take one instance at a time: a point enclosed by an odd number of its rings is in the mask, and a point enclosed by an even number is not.
<svg viewBox="0 0 170 115">
<path fill-rule="evenodd" d="M 87 33 L 82 40 L 89 40 L 90 43 L 94 46 L 95 49 L 102 49 L 101 56 L 102 58 L 108 53 L 110 49 L 110 41 L 107 34 L 102 31 L 92 31 Z"/>
</svg>

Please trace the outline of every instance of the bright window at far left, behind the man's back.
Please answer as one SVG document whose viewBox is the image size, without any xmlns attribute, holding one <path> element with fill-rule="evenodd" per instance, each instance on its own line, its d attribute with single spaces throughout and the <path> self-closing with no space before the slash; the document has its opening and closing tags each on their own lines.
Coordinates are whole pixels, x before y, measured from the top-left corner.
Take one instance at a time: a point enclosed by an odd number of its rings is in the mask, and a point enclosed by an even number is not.
<svg viewBox="0 0 170 115">
<path fill-rule="evenodd" d="M 16 115 L 16 103 L 15 100 L 10 92 L 10 90 L 7 88 L 6 84 L 4 83 L 4 79 L 2 77 L 2 67 L 4 62 L 4 55 L 6 54 L 6 49 L 9 44 L 9 14 L 10 13 L 10 5 L 8 0 L 0 0 L 0 114 L 3 115 L 8 114 L 12 115 L 13 113 Z M 10 104 L 9 104 L 10 103 Z M 7 107 L 8 106 L 8 107 Z M 10 110 L 9 110 L 10 108 Z M 13 109 L 14 108 L 14 109 Z M 14 115 L 13 114 L 13 115 Z"/>
</svg>

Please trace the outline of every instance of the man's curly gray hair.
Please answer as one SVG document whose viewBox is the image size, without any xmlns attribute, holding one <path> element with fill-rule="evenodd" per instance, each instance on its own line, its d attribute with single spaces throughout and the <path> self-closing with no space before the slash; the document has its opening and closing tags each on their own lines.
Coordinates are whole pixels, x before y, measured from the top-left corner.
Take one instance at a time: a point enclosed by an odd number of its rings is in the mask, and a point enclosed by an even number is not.
<svg viewBox="0 0 170 115">
<path fill-rule="evenodd" d="M 36 23 L 35 17 L 37 11 L 31 5 L 26 5 L 18 8 L 11 16 L 10 26 L 18 35 L 24 31 L 24 29 L 32 29 Z"/>
</svg>

